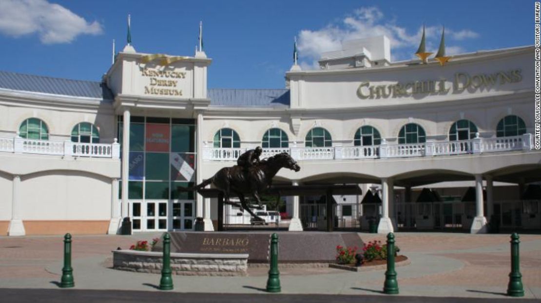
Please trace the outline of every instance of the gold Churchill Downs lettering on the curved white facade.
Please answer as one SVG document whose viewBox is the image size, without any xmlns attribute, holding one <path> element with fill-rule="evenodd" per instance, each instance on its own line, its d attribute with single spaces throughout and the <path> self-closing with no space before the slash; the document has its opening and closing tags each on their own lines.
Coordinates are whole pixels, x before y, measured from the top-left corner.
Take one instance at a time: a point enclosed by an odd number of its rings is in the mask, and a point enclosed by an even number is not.
<svg viewBox="0 0 541 303">
<path fill-rule="evenodd" d="M 465 72 L 454 74 L 453 83 L 449 85 L 447 79 L 413 81 L 406 83 L 370 85 L 363 82 L 357 89 L 357 96 L 361 99 L 380 99 L 389 97 L 408 97 L 418 94 L 443 94 L 453 89 L 453 92 L 464 90 L 475 91 L 482 87 L 490 89 L 494 85 L 516 83 L 522 81 L 521 70 L 500 71 L 494 73 L 478 73 L 470 75 Z"/>
</svg>

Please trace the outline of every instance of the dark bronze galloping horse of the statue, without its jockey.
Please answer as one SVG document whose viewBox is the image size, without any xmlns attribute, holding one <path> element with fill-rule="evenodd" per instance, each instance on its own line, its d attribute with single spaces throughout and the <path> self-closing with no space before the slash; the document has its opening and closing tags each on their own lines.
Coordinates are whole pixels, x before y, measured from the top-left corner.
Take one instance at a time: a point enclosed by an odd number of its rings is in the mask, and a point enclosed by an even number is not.
<svg viewBox="0 0 541 303">
<path fill-rule="evenodd" d="M 271 187 L 272 179 L 282 167 L 296 172 L 301 169 L 287 152 L 282 152 L 267 159 L 263 159 L 259 164 L 250 167 L 248 176 L 246 176 L 246 171 L 242 166 L 235 165 L 232 167 L 223 167 L 223 169 L 216 172 L 212 178 L 204 180 L 201 184 L 192 188 L 186 188 L 186 190 L 197 191 L 209 184 L 213 184 L 217 189 L 223 192 L 225 203 L 232 204 L 229 201 L 229 196 L 231 193 L 234 193 L 239 197 L 241 207 L 248 211 L 252 216 L 258 217 L 250 211 L 248 204 L 246 203 L 245 195 L 251 194 L 255 200 L 258 201 L 258 204 L 261 205 L 260 194 L 265 193 L 268 188 Z"/>
</svg>

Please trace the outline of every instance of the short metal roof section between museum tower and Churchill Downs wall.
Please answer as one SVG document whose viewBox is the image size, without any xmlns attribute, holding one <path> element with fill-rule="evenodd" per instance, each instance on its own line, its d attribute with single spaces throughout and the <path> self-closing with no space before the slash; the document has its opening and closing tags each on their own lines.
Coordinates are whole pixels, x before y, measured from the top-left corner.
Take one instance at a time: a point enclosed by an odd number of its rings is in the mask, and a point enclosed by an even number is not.
<svg viewBox="0 0 541 303">
<path fill-rule="evenodd" d="M 211 106 L 289 106 L 286 89 L 209 89 Z"/>
</svg>

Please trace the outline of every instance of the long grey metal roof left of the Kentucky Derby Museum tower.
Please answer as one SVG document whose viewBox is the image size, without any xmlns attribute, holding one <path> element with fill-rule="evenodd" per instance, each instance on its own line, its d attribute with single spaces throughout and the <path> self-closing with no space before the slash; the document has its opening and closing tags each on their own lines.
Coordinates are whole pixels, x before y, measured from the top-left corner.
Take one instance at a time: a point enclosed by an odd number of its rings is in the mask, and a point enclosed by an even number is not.
<svg viewBox="0 0 541 303">
<path fill-rule="evenodd" d="M 101 82 L 26 75 L 0 71 L 0 89 L 50 93 L 54 95 L 113 100 L 109 87 Z"/>
</svg>

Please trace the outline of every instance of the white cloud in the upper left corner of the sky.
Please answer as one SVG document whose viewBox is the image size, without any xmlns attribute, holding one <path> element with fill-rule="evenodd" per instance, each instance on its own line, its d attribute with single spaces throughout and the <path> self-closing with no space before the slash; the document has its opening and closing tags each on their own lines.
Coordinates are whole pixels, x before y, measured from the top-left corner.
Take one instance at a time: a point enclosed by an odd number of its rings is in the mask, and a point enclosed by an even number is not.
<svg viewBox="0 0 541 303">
<path fill-rule="evenodd" d="M 1 0 L 0 33 L 21 37 L 37 33 L 44 44 L 70 43 L 78 35 L 99 35 L 100 23 L 89 23 L 47 0 Z"/>
</svg>

